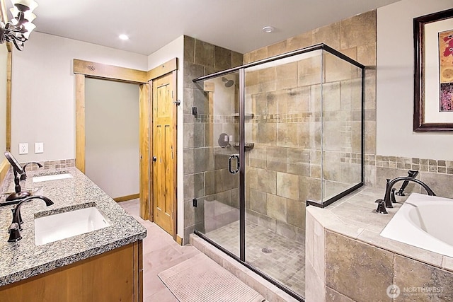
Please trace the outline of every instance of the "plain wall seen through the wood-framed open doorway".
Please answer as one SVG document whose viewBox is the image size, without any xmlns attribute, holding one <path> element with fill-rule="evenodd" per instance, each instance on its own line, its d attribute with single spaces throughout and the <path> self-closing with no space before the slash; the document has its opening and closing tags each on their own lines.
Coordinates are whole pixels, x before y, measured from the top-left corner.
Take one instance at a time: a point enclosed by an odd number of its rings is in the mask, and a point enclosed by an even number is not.
<svg viewBox="0 0 453 302">
<path fill-rule="evenodd" d="M 139 85 L 85 80 L 85 174 L 110 197 L 139 193 Z"/>
</svg>

